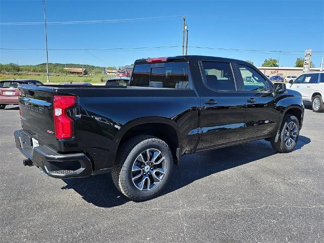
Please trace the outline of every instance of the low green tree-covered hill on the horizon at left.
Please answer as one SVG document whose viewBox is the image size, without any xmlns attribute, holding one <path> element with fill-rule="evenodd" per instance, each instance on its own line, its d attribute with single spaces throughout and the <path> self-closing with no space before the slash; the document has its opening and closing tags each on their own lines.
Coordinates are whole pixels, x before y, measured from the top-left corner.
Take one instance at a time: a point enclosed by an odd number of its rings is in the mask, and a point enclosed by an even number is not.
<svg viewBox="0 0 324 243">
<path fill-rule="evenodd" d="M 50 73 L 65 73 L 64 67 L 81 67 L 87 68 L 88 73 L 102 73 L 104 67 L 93 66 L 87 64 L 74 64 L 74 63 L 49 63 L 49 72 Z M 108 67 L 108 69 L 117 69 L 116 67 Z M 17 65 L 14 63 L 1 64 L 0 71 L 7 72 L 17 72 L 17 71 L 26 71 L 26 72 L 46 72 L 46 63 L 41 63 L 37 65 Z"/>
</svg>

